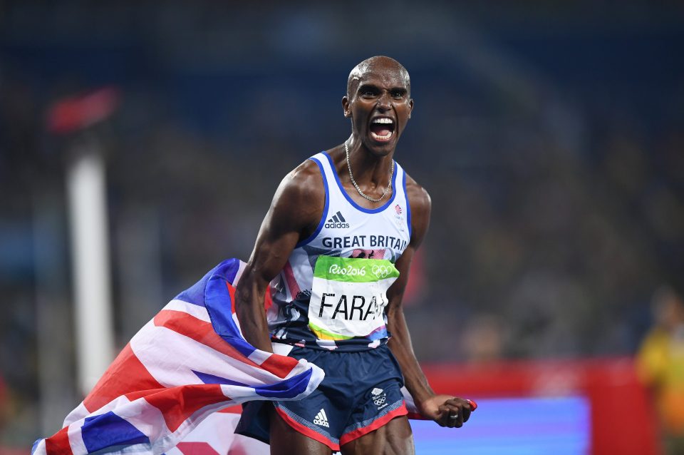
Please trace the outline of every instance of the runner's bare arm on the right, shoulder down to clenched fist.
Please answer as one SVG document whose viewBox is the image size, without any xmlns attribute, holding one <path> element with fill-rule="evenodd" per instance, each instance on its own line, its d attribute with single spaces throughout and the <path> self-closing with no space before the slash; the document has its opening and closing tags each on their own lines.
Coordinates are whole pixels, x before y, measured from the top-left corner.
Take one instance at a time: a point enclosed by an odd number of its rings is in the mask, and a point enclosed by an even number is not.
<svg viewBox="0 0 684 455">
<path fill-rule="evenodd" d="M 413 397 L 418 411 L 428 419 L 437 421 L 441 426 L 462 426 L 463 422 L 470 417 L 470 404 L 464 399 L 451 395 L 439 395 L 432 391 L 423 374 L 423 369 L 418 364 L 418 359 L 415 358 L 404 317 L 402 298 L 408 282 L 408 272 L 415 250 L 423 241 L 430 224 L 431 209 L 430 195 L 413 179 L 407 183 L 407 191 L 413 215 L 412 235 L 408 247 L 396 263 L 400 275 L 388 290 L 387 319 L 388 329 L 392 334 L 388 346 L 399 362 L 405 386 Z M 450 415 L 457 415 L 457 419 L 450 419 Z"/>
</svg>

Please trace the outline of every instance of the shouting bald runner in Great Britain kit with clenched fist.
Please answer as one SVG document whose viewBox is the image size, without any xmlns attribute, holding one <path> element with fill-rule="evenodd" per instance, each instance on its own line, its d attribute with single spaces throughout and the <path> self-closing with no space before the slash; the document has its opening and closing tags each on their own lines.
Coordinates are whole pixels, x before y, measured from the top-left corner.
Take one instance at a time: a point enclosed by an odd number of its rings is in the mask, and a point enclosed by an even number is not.
<svg viewBox="0 0 684 455">
<path fill-rule="evenodd" d="M 393 160 L 413 111 L 408 72 L 368 58 L 351 71 L 342 107 L 351 136 L 282 180 L 237 286 L 248 342 L 326 372 L 301 402 L 245 409 L 252 435 L 268 412 L 271 454 L 413 453 L 402 384 L 441 426 L 470 416 L 471 402 L 430 389 L 401 307 L 430 219 L 430 196 Z"/>
</svg>

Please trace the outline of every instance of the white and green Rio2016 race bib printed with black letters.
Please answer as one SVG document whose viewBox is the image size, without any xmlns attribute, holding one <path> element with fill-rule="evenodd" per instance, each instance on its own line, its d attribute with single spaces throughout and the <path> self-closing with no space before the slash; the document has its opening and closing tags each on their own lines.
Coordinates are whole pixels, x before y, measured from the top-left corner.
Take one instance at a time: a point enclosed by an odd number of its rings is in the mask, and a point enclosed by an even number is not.
<svg viewBox="0 0 684 455">
<path fill-rule="evenodd" d="M 319 339 L 385 336 L 387 290 L 398 276 L 385 259 L 318 256 L 309 328 Z"/>
</svg>

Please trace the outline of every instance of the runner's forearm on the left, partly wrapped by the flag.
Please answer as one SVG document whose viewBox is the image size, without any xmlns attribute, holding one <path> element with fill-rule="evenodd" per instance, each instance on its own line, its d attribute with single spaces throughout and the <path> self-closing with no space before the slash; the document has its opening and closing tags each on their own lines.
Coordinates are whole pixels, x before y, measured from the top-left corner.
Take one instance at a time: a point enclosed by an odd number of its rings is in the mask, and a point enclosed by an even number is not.
<svg viewBox="0 0 684 455">
<path fill-rule="evenodd" d="M 257 349 L 273 352 L 264 310 L 266 283 L 245 270 L 235 290 L 236 313 L 244 339 Z"/>
</svg>

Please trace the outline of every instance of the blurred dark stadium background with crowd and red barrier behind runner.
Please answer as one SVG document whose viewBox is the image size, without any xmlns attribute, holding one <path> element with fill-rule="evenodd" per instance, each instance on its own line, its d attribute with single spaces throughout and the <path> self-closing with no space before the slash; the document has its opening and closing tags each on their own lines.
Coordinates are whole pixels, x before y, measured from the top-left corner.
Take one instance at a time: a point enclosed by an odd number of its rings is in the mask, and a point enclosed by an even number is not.
<svg viewBox="0 0 684 455">
<path fill-rule="evenodd" d="M 346 138 L 348 71 L 385 54 L 416 103 L 397 159 L 433 202 L 415 350 L 484 400 L 462 436 L 417 427 L 418 453 L 658 453 L 631 358 L 683 285 L 681 2 L 139 3 L 0 2 L 0 451 L 81 400 L 74 150 L 103 150 L 121 347 L 249 257 L 280 178 Z M 56 103 L 101 88 L 113 113 L 58 133 Z"/>
</svg>

